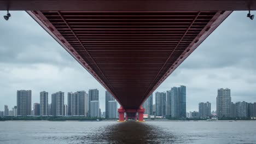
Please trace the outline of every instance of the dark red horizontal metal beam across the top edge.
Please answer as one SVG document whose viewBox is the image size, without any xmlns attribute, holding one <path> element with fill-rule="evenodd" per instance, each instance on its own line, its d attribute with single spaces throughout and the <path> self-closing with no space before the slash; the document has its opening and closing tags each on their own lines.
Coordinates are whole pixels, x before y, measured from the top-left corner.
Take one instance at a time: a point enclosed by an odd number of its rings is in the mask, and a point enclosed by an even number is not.
<svg viewBox="0 0 256 144">
<path fill-rule="evenodd" d="M 208 11 L 256 10 L 255 0 L 0 0 L 0 10 Z"/>
</svg>

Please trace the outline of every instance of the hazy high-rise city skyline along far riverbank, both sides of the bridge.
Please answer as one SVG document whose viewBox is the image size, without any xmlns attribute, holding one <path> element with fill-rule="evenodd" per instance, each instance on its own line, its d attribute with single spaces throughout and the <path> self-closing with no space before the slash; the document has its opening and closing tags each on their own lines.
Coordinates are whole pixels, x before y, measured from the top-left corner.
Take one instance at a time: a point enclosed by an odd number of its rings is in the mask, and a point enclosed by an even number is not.
<svg viewBox="0 0 256 144">
<path fill-rule="evenodd" d="M 217 110 L 211 111 L 211 103 L 200 102 L 198 111 L 186 111 L 186 86 L 172 87 L 166 92 L 155 93 L 155 104 L 153 105 L 153 94 L 142 104 L 145 109 L 144 114 L 148 116 L 160 116 L 167 118 L 251 118 L 256 116 L 256 102 L 231 101 L 231 89 L 217 89 L 216 104 Z M 40 92 L 40 103 L 31 103 L 31 90 L 17 91 L 17 106 L 10 110 L 8 105 L 4 105 L 4 111 L 0 111 L 0 116 L 84 116 L 84 117 L 106 117 L 117 118 L 118 103 L 114 97 L 106 91 L 106 110 L 102 113 L 100 101 L 98 101 L 98 89 L 68 93 L 68 103 L 64 103 L 65 93 L 59 91 L 51 94 L 53 103 L 48 104 L 48 92 Z M 166 97 L 167 94 L 167 97 Z M 108 103 L 108 104 L 107 104 Z M 88 110 L 88 106 L 90 109 Z M 47 107 L 47 108 L 46 108 Z M 42 109 L 43 108 L 43 109 Z M 151 109 L 154 109 L 152 112 Z M 48 112 L 50 110 L 50 112 Z M 45 114 L 45 112 L 48 112 Z M 87 115 L 87 113 L 89 113 Z M 106 115 L 106 113 L 108 113 Z M 152 114 L 150 114 L 152 113 Z M 103 115 L 102 115 L 103 114 Z"/>
</svg>

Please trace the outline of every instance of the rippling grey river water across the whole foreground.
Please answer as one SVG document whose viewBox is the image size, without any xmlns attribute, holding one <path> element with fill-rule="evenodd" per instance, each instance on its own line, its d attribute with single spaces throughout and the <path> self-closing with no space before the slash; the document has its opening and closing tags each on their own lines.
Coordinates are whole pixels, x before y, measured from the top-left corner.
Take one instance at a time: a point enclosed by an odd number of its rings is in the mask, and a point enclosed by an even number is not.
<svg viewBox="0 0 256 144">
<path fill-rule="evenodd" d="M 0 143 L 256 143 L 256 121 L 5 121 Z"/>
</svg>

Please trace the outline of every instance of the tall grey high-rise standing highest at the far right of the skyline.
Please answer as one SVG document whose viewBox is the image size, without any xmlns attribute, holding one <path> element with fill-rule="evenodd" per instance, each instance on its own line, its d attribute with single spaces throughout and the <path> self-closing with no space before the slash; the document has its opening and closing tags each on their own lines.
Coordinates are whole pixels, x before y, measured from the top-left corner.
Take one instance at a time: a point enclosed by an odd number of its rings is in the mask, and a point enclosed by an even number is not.
<svg viewBox="0 0 256 144">
<path fill-rule="evenodd" d="M 217 116 L 218 117 L 231 117 L 231 94 L 230 89 L 220 88 L 217 95 Z"/>
</svg>

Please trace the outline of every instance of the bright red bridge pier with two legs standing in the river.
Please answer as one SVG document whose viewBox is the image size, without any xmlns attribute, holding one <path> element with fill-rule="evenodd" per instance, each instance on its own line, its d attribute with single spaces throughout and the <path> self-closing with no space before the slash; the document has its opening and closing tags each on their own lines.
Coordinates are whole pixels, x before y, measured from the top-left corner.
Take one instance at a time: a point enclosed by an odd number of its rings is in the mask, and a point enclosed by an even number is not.
<svg viewBox="0 0 256 144">
<path fill-rule="evenodd" d="M 119 113 L 119 120 L 118 122 L 126 122 L 129 118 L 134 118 L 136 122 L 145 122 L 143 119 L 143 113 L 144 109 L 142 106 L 139 107 L 139 109 L 123 109 L 123 106 L 120 106 L 118 109 Z M 124 113 L 126 113 L 126 117 L 124 120 Z M 137 119 L 137 113 L 138 113 L 138 119 Z"/>
</svg>

